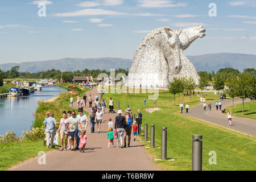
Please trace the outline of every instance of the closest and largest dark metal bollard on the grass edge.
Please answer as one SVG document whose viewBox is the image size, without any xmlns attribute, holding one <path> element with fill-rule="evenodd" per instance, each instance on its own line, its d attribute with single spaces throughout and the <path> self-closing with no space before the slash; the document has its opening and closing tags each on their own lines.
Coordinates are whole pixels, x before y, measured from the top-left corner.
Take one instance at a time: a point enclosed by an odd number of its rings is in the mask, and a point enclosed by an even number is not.
<svg viewBox="0 0 256 182">
<path fill-rule="evenodd" d="M 192 135 L 192 171 L 202 171 L 202 135 Z"/>
</svg>

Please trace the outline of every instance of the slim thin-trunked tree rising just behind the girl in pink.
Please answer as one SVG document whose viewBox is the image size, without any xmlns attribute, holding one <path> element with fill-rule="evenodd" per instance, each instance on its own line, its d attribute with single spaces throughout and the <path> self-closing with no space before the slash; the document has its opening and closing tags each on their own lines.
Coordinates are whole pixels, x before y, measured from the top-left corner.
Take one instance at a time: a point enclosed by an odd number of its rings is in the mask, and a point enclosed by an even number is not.
<svg viewBox="0 0 256 182">
<path fill-rule="evenodd" d="M 226 82 L 226 85 L 228 86 L 228 89 L 226 89 L 226 93 L 229 94 L 229 96 L 232 98 L 232 112 L 234 110 L 234 97 L 237 96 L 237 76 L 236 75 L 230 75 L 228 78 L 228 81 Z"/>
</svg>

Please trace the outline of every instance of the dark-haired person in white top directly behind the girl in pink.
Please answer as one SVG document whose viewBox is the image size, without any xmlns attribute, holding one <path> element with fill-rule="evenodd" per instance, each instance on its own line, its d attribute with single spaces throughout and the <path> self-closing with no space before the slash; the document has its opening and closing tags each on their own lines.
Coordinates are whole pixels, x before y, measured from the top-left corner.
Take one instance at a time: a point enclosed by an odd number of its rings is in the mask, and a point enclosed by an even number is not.
<svg viewBox="0 0 256 182">
<path fill-rule="evenodd" d="M 80 143 L 80 133 L 82 131 L 85 131 L 86 133 L 86 128 L 88 126 L 88 118 L 85 114 L 82 114 L 82 111 L 84 111 L 84 109 L 82 107 L 80 107 L 78 109 L 79 114 L 76 116 L 77 117 L 77 122 L 78 122 L 78 126 L 79 126 L 79 131 L 77 133 L 77 141 L 76 141 L 76 149 L 79 150 L 79 143 Z"/>
</svg>

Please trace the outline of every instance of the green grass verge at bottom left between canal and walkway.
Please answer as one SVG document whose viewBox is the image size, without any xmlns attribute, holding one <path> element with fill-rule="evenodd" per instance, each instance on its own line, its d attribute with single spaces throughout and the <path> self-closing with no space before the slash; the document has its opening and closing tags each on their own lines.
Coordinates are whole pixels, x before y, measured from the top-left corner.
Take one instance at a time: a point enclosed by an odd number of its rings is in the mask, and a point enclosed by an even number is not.
<svg viewBox="0 0 256 182">
<path fill-rule="evenodd" d="M 38 152 L 47 152 L 52 148 L 43 145 L 43 141 L 9 142 L 0 143 L 0 171 L 28 158 L 38 155 Z"/>
</svg>

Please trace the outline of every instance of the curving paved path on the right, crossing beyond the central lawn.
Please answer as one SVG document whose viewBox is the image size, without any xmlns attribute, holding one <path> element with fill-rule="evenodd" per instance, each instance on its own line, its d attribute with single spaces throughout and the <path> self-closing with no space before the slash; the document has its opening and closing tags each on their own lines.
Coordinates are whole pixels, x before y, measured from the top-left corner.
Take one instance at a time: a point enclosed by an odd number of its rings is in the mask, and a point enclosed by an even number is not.
<svg viewBox="0 0 256 182">
<path fill-rule="evenodd" d="M 249 102 L 247 99 L 245 102 Z M 234 104 L 239 104 L 242 102 L 242 99 L 234 100 Z M 220 110 L 216 110 L 215 103 L 216 101 L 211 101 L 212 110 L 204 110 L 203 105 L 196 105 L 188 109 L 188 113 L 183 111 L 183 114 L 189 115 L 194 118 L 203 119 L 212 123 L 216 123 L 217 125 L 228 127 L 229 129 L 234 129 L 237 131 L 242 131 L 243 133 L 256 135 L 256 121 L 254 119 L 248 118 L 240 118 L 234 117 L 232 115 L 232 126 L 228 126 L 228 119 L 226 118 L 226 114 L 222 114 Z M 207 105 L 209 102 L 207 102 Z M 223 110 L 225 107 L 232 105 L 232 99 L 222 101 Z M 184 109 L 185 110 L 185 109 Z M 226 110 L 227 111 L 227 110 Z"/>
</svg>

